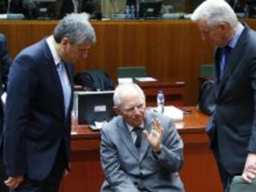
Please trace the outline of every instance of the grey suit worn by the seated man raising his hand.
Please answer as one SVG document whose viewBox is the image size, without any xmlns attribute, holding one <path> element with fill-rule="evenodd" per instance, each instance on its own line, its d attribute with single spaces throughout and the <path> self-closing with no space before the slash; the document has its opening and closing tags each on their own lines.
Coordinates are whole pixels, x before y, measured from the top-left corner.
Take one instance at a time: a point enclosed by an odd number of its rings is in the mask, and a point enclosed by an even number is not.
<svg viewBox="0 0 256 192">
<path fill-rule="evenodd" d="M 177 171 L 183 164 L 183 143 L 169 117 L 147 111 L 145 129 L 159 119 L 164 128 L 163 148 L 156 155 L 142 138 L 140 152 L 121 116 L 106 124 L 101 132 L 101 164 L 105 182 L 101 191 L 184 191 Z M 143 190 L 139 190 L 143 189 Z"/>
</svg>

